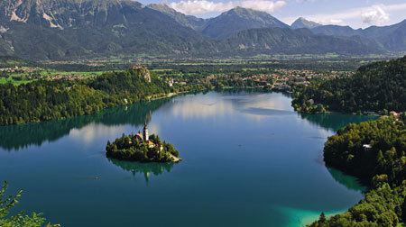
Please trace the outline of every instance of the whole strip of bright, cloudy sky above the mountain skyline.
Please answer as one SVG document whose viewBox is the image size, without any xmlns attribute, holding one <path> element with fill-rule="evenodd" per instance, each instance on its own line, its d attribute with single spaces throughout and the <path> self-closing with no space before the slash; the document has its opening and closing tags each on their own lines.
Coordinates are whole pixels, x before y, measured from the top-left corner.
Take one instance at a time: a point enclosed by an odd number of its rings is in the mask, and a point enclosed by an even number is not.
<svg viewBox="0 0 406 227">
<path fill-rule="evenodd" d="M 272 14 L 291 24 L 299 17 L 322 24 L 354 29 L 383 26 L 406 19 L 405 0 L 142 0 L 144 5 L 166 4 L 201 18 L 217 16 L 236 6 Z"/>
</svg>

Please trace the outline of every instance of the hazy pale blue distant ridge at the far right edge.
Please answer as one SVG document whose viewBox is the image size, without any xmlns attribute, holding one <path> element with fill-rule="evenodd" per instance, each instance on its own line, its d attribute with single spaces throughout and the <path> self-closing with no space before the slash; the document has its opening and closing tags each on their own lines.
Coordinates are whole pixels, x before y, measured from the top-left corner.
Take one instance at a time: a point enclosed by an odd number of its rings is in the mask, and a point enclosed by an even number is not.
<svg viewBox="0 0 406 227">
<path fill-rule="evenodd" d="M 390 26 L 371 26 L 354 30 L 349 26 L 325 25 L 311 29 L 318 34 L 331 36 L 360 36 L 379 42 L 386 50 L 406 50 L 406 20 Z"/>
</svg>

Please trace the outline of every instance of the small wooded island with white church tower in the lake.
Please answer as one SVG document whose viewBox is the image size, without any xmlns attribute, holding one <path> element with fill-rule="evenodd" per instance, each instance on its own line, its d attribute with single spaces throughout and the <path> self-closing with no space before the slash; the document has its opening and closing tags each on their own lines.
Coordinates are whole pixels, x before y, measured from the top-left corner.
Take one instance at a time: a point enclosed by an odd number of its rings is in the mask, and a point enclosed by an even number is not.
<svg viewBox="0 0 406 227">
<path fill-rule="evenodd" d="M 110 141 L 106 145 L 108 158 L 139 161 L 139 162 L 178 162 L 179 151 L 172 144 L 161 141 L 159 136 L 148 135 L 147 124 L 144 123 L 143 134 L 131 133 Z"/>
</svg>

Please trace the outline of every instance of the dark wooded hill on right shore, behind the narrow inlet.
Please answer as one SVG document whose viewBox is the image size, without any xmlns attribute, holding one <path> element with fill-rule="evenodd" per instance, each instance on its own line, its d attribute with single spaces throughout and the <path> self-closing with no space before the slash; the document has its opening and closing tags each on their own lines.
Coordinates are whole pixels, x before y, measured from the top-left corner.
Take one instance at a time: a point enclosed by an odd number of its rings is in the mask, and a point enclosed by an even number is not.
<svg viewBox="0 0 406 227">
<path fill-rule="evenodd" d="M 406 56 L 358 68 L 353 77 L 338 77 L 298 87 L 293 107 L 302 113 L 324 108 L 345 113 L 405 111 Z"/>
</svg>

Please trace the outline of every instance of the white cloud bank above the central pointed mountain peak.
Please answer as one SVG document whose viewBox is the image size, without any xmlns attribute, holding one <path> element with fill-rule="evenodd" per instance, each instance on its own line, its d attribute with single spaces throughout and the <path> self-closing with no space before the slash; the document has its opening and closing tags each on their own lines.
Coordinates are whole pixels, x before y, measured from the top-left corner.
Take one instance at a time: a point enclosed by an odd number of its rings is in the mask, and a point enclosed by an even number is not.
<svg viewBox="0 0 406 227">
<path fill-rule="evenodd" d="M 187 0 L 180 2 L 172 2 L 169 4 L 171 8 L 179 11 L 183 14 L 206 14 L 206 13 L 218 13 L 230 10 L 236 6 L 241 6 L 249 9 L 264 11 L 267 13 L 273 13 L 283 5 L 286 5 L 285 1 L 269 1 L 269 0 L 242 0 L 242 1 L 230 1 L 230 2 L 211 2 L 208 0 Z"/>
</svg>

